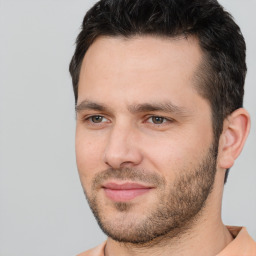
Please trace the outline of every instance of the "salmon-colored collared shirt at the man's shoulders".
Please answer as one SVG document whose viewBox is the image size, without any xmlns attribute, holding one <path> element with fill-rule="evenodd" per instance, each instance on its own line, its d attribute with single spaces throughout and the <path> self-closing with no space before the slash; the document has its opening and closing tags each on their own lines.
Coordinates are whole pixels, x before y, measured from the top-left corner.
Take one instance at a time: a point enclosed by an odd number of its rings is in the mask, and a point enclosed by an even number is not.
<svg viewBox="0 0 256 256">
<path fill-rule="evenodd" d="M 227 226 L 234 240 L 216 256 L 256 256 L 256 243 L 246 228 Z M 106 242 L 77 256 L 104 256 Z"/>
</svg>

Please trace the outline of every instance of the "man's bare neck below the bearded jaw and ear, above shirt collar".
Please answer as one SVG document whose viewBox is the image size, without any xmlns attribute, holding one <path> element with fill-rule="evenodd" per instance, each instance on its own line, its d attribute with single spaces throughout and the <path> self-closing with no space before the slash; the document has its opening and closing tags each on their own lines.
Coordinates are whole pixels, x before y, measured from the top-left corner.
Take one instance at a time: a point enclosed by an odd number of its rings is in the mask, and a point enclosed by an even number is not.
<svg viewBox="0 0 256 256">
<path fill-rule="evenodd" d="M 218 254 L 233 239 L 221 221 L 220 194 L 222 191 L 213 189 L 204 209 L 193 221 L 190 221 L 190 224 L 186 225 L 186 228 L 171 231 L 147 244 L 119 243 L 108 238 L 105 256 L 214 256 Z M 216 198 L 220 200 L 216 201 Z"/>
</svg>

